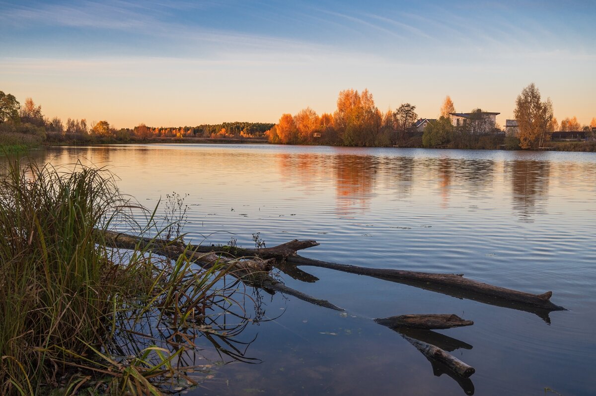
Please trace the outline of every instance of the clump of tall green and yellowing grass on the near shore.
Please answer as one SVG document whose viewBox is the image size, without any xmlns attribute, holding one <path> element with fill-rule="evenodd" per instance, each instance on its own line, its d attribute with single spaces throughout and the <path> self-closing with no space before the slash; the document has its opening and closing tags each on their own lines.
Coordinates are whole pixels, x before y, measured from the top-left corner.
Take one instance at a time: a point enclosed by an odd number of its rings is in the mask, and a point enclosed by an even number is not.
<svg viewBox="0 0 596 396">
<path fill-rule="evenodd" d="M 69 394 L 83 383 L 159 394 L 184 376 L 187 330 L 205 326 L 207 308 L 232 304 L 235 289 L 219 290 L 218 266 L 198 271 L 184 254 L 172 263 L 105 247 L 95 230 L 126 220 L 129 207 L 110 174 L 80 164 L 13 163 L 0 178 L 0 394 Z M 158 323 L 178 337 L 147 330 Z"/>
</svg>

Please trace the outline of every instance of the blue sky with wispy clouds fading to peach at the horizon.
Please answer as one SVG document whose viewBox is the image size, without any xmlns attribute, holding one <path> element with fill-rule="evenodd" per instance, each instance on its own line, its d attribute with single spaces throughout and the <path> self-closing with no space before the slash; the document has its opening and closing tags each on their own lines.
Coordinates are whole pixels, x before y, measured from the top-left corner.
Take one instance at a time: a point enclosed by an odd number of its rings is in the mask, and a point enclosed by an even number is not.
<svg viewBox="0 0 596 396">
<path fill-rule="evenodd" d="M 596 117 L 591 1 L 2 1 L 0 91 L 116 127 L 333 113 L 344 89 L 513 118 L 529 83 L 555 117 Z"/>
</svg>

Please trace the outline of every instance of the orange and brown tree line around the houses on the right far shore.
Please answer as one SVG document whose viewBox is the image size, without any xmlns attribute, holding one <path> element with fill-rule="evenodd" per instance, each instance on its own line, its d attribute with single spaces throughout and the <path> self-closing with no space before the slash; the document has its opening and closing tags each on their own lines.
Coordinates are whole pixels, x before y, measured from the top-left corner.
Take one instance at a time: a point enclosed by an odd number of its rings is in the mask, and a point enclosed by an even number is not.
<svg viewBox="0 0 596 396">
<path fill-rule="evenodd" d="M 576 117 L 568 117 L 559 125 L 552 102 L 541 101 L 533 83 L 516 100 L 514 116 L 519 127 L 511 136 L 506 136 L 489 113 L 480 108 L 465 113 L 465 123 L 459 126 L 454 125 L 452 113 L 455 113 L 454 102 L 446 96 L 438 118 L 429 120 L 421 132 L 415 127 L 418 120 L 415 105 L 405 103 L 381 113 L 368 89 L 362 92 L 347 89 L 339 93 L 334 113 L 319 116 L 307 107 L 295 115 L 283 114 L 266 136 L 275 144 L 528 149 L 542 146 L 557 130 L 591 133 L 596 127 L 596 117 L 589 126 L 581 126 Z"/>
</svg>

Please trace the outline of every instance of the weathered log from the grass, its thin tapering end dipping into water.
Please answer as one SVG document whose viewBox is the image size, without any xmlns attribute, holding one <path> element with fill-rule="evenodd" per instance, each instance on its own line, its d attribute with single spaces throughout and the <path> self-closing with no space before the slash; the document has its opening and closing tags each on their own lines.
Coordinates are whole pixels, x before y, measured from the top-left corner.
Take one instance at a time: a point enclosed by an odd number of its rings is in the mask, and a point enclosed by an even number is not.
<svg viewBox="0 0 596 396">
<path fill-rule="evenodd" d="M 321 300 L 297 291 L 296 289 L 289 288 L 271 277 L 269 271 L 272 269 L 272 260 L 263 260 L 262 258 L 253 258 L 252 260 L 232 260 L 227 257 L 222 257 L 215 252 L 198 252 L 193 250 L 194 247 L 192 245 L 182 246 L 160 239 L 142 238 L 114 231 L 96 230 L 96 232 L 101 233 L 107 247 L 126 250 L 139 249 L 153 251 L 170 260 L 177 260 L 181 254 L 185 254 L 188 260 L 197 263 L 203 268 L 210 268 L 216 263 L 225 263 L 227 267 L 224 267 L 224 269 L 229 271 L 230 275 L 237 277 L 246 285 L 293 295 L 300 300 L 319 305 L 320 307 L 343 311 L 343 308 L 337 307 L 337 305 L 334 305 L 327 300 Z"/>
</svg>

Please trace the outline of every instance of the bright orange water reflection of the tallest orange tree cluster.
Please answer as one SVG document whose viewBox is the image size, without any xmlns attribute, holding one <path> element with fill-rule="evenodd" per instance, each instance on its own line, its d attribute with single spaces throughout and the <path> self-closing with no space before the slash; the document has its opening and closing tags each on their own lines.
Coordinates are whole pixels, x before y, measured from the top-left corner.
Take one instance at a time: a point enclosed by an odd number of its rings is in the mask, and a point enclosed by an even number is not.
<svg viewBox="0 0 596 396">
<path fill-rule="evenodd" d="M 370 155 L 335 158 L 337 214 L 349 216 L 368 210 L 378 167 L 378 159 Z"/>
</svg>

